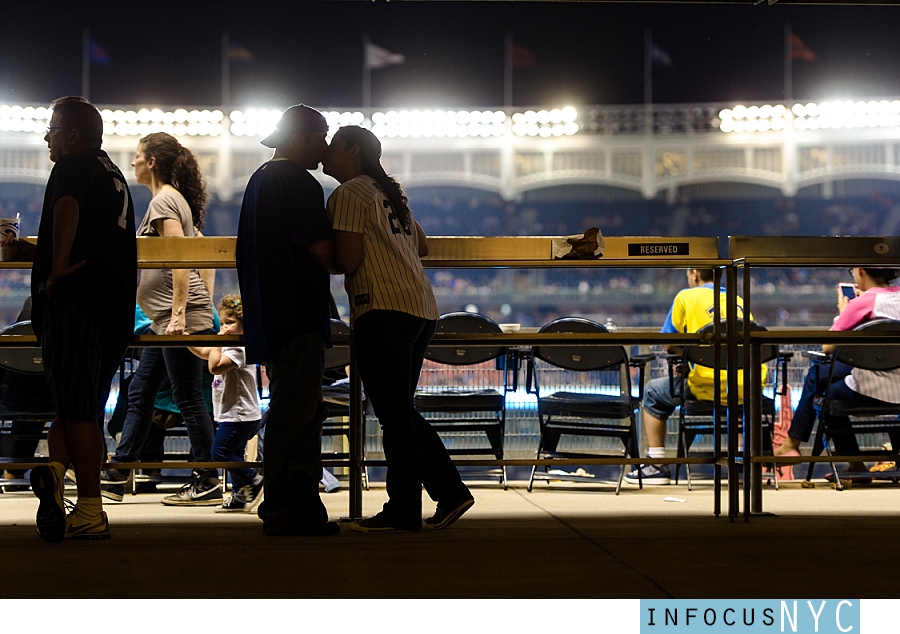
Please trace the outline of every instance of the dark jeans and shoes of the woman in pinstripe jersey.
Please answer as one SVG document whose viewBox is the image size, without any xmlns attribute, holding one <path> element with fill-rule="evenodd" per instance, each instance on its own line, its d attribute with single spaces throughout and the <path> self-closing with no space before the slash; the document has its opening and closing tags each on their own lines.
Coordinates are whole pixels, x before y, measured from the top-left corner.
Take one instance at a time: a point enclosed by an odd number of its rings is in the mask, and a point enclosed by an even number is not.
<svg viewBox="0 0 900 634">
<path fill-rule="evenodd" d="M 353 346 L 359 373 L 382 429 L 387 461 L 385 521 L 396 528 L 422 526 L 422 486 L 442 508 L 472 494 L 459 477 L 441 437 L 413 405 L 433 320 L 373 310 L 356 320 Z"/>
</svg>

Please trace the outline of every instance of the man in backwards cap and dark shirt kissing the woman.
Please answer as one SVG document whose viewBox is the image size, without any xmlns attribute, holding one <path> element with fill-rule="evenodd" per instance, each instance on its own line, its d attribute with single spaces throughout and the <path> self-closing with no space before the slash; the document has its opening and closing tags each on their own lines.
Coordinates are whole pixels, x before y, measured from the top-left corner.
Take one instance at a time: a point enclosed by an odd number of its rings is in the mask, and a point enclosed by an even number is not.
<svg viewBox="0 0 900 634">
<path fill-rule="evenodd" d="M 322 186 L 307 171 L 322 161 L 327 133 L 317 110 L 285 110 L 262 140 L 275 155 L 250 178 L 241 205 L 244 346 L 247 363 L 265 363 L 269 377 L 265 501 L 258 511 L 266 535 L 340 532 L 319 497 L 334 243 Z"/>
</svg>

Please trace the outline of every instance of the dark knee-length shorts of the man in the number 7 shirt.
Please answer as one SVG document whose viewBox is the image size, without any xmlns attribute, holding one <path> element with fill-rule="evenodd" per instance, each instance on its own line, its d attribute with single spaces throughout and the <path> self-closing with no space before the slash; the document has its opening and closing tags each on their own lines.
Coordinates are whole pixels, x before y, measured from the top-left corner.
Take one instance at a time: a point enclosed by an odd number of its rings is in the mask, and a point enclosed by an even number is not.
<svg viewBox="0 0 900 634">
<path fill-rule="evenodd" d="M 41 355 L 59 418 L 102 420 L 110 384 L 129 345 L 130 332 L 83 307 L 47 302 Z"/>
</svg>

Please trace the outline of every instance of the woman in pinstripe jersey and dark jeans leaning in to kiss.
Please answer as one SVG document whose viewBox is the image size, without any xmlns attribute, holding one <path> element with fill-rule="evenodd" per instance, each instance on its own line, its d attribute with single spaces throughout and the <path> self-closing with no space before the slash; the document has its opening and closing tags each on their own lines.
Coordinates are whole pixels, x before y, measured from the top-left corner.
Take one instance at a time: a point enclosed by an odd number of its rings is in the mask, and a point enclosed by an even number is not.
<svg viewBox="0 0 900 634">
<path fill-rule="evenodd" d="M 437 502 L 427 528 L 445 528 L 473 504 L 437 432 L 413 396 L 437 303 L 420 258 L 428 241 L 400 185 L 381 166 L 381 143 L 358 126 L 339 129 L 322 161 L 341 185 L 328 198 L 335 259 L 350 298 L 353 346 L 382 427 L 389 500 L 362 532 L 422 528 L 422 486 Z"/>
</svg>

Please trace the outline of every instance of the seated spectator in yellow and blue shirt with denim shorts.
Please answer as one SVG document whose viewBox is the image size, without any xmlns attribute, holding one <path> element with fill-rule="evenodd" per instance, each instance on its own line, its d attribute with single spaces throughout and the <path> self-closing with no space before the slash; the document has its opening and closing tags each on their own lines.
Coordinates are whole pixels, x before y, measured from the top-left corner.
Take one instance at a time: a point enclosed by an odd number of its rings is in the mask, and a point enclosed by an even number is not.
<svg viewBox="0 0 900 634">
<path fill-rule="evenodd" d="M 715 291 L 713 289 L 712 269 L 688 269 L 688 288 L 680 291 L 672 302 L 669 314 L 660 332 L 697 332 L 703 326 L 712 323 L 715 311 Z M 725 316 L 725 289 L 720 288 L 719 312 Z M 738 317 L 744 316 L 743 301 L 738 298 Z M 680 352 L 670 347 L 669 352 Z M 765 371 L 765 368 L 763 368 Z M 683 371 L 675 376 L 675 394 L 685 392 L 685 398 L 711 401 L 713 399 L 713 369 L 703 366 L 692 366 L 684 381 Z M 738 381 L 742 379 L 738 375 Z M 764 377 L 765 378 L 765 377 Z M 726 393 L 726 373 L 721 372 L 722 395 Z M 660 377 L 647 382 L 644 388 L 644 411 L 642 421 L 647 430 L 647 457 L 656 464 L 641 465 L 641 480 L 644 485 L 669 484 L 669 468 L 659 464 L 666 457 L 666 421 L 675 411 L 680 397 L 672 394 L 668 377 Z M 625 481 L 638 484 L 638 470 L 634 469 L 625 476 Z"/>
</svg>

